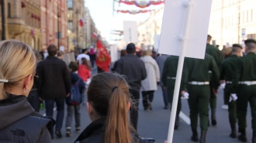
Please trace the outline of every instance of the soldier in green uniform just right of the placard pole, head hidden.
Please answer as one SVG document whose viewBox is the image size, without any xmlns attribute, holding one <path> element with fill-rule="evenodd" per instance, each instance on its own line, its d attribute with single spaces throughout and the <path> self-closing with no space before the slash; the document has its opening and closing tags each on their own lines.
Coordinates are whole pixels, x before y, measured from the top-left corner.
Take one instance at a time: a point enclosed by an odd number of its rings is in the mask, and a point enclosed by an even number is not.
<svg viewBox="0 0 256 143">
<path fill-rule="evenodd" d="M 189 92 L 189 109 L 190 121 L 192 128 L 192 141 L 199 141 L 200 143 L 206 142 L 206 132 L 208 130 L 208 117 L 209 117 L 209 70 L 212 71 L 213 76 L 213 89 L 217 93 L 220 71 L 216 66 L 213 56 L 206 53 L 204 60 L 199 59 L 185 59 L 185 78 L 187 83 L 182 83 Z M 182 91 L 182 94 L 185 91 Z M 201 137 L 199 140 L 197 133 L 198 116 L 200 117 Z"/>
</svg>

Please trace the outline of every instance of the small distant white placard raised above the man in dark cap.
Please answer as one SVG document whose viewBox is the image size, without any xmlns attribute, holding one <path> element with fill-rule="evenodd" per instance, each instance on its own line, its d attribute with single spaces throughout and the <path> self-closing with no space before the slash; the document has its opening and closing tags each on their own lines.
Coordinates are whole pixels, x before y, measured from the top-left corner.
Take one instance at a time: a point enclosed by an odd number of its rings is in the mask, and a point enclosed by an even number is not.
<svg viewBox="0 0 256 143">
<path fill-rule="evenodd" d="M 138 42 L 137 22 L 123 21 L 123 36 L 127 43 Z"/>
</svg>

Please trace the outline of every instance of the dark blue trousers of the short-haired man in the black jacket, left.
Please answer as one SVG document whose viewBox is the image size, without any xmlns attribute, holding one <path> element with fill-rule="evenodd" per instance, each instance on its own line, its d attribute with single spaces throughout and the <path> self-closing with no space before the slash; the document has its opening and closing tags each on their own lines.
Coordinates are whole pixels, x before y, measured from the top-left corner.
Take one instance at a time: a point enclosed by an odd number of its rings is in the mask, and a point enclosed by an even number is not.
<svg viewBox="0 0 256 143">
<path fill-rule="evenodd" d="M 57 117 L 56 117 L 56 131 L 61 130 L 63 120 L 64 120 L 64 104 L 65 104 L 65 98 L 64 99 L 46 99 L 45 100 L 45 109 L 46 114 L 48 117 L 54 116 L 54 102 L 57 106 Z"/>
</svg>

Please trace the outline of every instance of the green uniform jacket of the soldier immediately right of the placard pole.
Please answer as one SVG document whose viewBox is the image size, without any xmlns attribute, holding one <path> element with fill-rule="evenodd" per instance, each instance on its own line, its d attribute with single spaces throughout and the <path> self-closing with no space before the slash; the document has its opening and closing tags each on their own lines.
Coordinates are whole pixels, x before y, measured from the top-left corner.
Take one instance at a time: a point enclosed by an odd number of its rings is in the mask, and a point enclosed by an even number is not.
<svg viewBox="0 0 256 143">
<path fill-rule="evenodd" d="M 212 77 L 213 77 L 213 88 L 218 89 L 219 82 L 220 82 L 220 71 L 218 70 L 218 67 L 216 66 L 216 62 L 213 59 L 213 56 L 210 56 L 206 53 L 205 59 L 192 59 L 192 58 L 186 58 L 185 59 L 185 77 L 188 78 L 187 80 L 183 81 L 210 81 L 210 75 L 209 70 L 212 71 Z M 182 83 L 187 84 L 187 83 Z"/>
</svg>

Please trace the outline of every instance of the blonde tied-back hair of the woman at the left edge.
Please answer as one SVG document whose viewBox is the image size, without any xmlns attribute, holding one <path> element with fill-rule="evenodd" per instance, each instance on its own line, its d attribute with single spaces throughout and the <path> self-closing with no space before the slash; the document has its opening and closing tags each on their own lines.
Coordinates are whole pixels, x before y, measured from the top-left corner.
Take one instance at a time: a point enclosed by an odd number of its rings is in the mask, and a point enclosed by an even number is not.
<svg viewBox="0 0 256 143">
<path fill-rule="evenodd" d="M 0 83 L 0 100 L 6 98 L 6 87 L 15 87 L 16 83 L 36 71 L 36 56 L 25 43 L 17 40 L 0 42 L 0 79 L 9 80 Z"/>
</svg>

